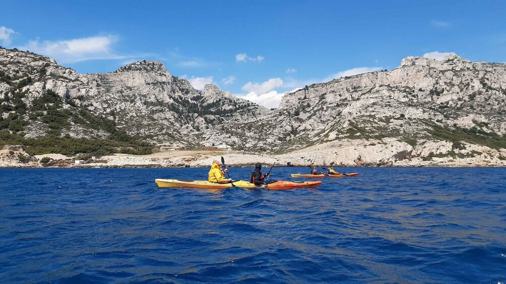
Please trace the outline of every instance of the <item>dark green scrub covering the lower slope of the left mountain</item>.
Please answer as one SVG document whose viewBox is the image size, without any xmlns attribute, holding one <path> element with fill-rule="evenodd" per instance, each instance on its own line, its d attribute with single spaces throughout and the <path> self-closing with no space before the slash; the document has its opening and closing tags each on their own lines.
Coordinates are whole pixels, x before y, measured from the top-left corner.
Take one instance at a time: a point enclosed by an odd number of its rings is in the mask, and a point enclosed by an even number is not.
<svg viewBox="0 0 506 284">
<path fill-rule="evenodd" d="M 0 112 L 9 112 L 6 119 L 0 116 L 0 145 L 23 145 L 30 155 L 86 153 L 102 156 L 111 153 L 151 153 L 153 145 L 118 129 L 114 121 L 94 116 L 72 100 L 62 99 L 52 90 L 47 90 L 45 94 L 34 99 L 30 107 L 23 102 L 25 95 L 18 91 L 12 97 L 5 95 L 0 98 Z M 25 119 L 32 123 L 40 122 L 49 130 L 42 132 L 44 136 L 27 138 L 23 131 L 30 123 Z M 105 133 L 107 137 L 71 137 L 69 132 L 72 131 L 72 125 Z"/>
</svg>

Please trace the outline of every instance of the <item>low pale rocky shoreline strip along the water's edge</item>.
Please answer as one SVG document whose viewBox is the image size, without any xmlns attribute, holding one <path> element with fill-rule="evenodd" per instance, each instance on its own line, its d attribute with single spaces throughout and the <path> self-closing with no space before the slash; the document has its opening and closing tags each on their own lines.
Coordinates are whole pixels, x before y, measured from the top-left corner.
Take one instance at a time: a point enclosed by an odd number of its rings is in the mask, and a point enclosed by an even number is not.
<svg viewBox="0 0 506 284">
<path fill-rule="evenodd" d="M 469 144 L 466 149 L 458 150 L 447 141 L 421 145 L 413 147 L 391 138 L 342 140 L 283 154 L 176 150 L 149 155 L 90 156 L 78 164 L 75 163 L 76 157 L 61 154 L 30 156 L 21 146 L 4 146 L 0 148 L 0 167 L 207 167 L 221 156 L 228 166 L 234 167 L 249 167 L 257 162 L 276 166 L 329 165 L 331 162 L 339 167 L 506 166 L 506 149 Z"/>
</svg>

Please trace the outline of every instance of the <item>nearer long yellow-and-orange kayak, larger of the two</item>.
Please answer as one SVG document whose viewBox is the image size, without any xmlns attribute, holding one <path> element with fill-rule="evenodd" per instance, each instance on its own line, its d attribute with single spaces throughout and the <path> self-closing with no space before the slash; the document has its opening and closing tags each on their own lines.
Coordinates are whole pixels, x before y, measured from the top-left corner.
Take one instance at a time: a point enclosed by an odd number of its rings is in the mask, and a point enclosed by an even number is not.
<svg viewBox="0 0 506 284">
<path fill-rule="evenodd" d="M 225 189 L 231 187 L 238 187 L 244 189 L 252 189 L 252 188 L 266 188 L 270 190 L 288 190 L 295 188 L 305 188 L 305 187 L 317 187 L 321 184 L 321 181 L 315 182 L 289 182 L 289 181 L 277 181 L 271 183 L 269 185 L 264 186 L 256 186 L 252 183 L 246 181 L 237 181 L 228 184 L 218 184 L 218 183 L 210 183 L 208 181 L 185 181 L 185 180 L 165 180 L 165 179 L 156 179 L 155 183 L 158 187 L 167 187 L 167 188 L 202 188 L 202 189 Z"/>
</svg>

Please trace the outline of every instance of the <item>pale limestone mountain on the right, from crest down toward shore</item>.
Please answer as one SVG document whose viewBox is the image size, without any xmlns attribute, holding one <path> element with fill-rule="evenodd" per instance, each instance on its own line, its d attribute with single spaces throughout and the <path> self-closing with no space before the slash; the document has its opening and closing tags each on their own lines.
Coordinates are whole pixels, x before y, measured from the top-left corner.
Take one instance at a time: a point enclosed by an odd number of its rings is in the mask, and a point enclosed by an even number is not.
<svg viewBox="0 0 506 284">
<path fill-rule="evenodd" d="M 335 79 L 286 94 L 278 109 L 256 123 L 264 127 L 262 135 L 248 134 L 250 123 L 235 122 L 232 128 L 243 134 L 229 141 L 283 153 L 330 141 L 377 145 L 391 138 L 401 143 L 391 159 L 464 159 L 482 155 L 472 150 L 479 145 L 503 160 L 497 152 L 506 152 L 506 64 L 472 63 L 457 55 L 441 61 L 408 57 L 391 71 Z M 447 146 L 439 151 L 434 143 Z M 402 145 L 412 152 L 404 154 Z M 360 156 L 367 159 L 357 153 L 352 160 Z M 373 160 L 390 162 L 379 156 Z"/>
</svg>

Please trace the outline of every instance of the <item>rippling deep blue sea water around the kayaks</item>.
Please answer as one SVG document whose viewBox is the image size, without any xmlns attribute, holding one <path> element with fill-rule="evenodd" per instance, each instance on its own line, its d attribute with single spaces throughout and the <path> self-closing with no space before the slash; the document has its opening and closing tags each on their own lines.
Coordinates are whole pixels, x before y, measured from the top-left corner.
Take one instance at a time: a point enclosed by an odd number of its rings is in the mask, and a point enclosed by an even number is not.
<svg viewBox="0 0 506 284">
<path fill-rule="evenodd" d="M 288 191 L 154 183 L 207 171 L 0 169 L 0 282 L 506 282 L 506 168 L 343 168 L 360 174 Z"/>
</svg>

